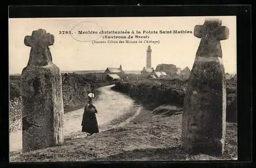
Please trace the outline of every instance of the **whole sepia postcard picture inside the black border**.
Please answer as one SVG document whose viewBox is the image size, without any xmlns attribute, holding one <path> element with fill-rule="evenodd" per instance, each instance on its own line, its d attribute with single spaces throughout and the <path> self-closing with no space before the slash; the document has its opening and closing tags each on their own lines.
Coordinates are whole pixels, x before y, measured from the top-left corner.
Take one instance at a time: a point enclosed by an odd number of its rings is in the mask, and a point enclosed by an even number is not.
<svg viewBox="0 0 256 168">
<path fill-rule="evenodd" d="M 236 16 L 9 18 L 10 162 L 237 160 Z"/>
</svg>

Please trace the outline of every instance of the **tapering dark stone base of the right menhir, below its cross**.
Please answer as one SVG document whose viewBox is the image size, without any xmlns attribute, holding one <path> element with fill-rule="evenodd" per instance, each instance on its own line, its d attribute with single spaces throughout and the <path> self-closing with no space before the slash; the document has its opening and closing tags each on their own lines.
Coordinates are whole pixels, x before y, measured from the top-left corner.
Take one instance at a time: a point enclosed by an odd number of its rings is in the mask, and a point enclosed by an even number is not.
<svg viewBox="0 0 256 168">
<path fill-rule="evenodd" d="M 221 155 L 226 131 L 226 85 L 221 58 L 197 57 L 182 116 L 182 146 L 188 153 Z"/>
</svg>

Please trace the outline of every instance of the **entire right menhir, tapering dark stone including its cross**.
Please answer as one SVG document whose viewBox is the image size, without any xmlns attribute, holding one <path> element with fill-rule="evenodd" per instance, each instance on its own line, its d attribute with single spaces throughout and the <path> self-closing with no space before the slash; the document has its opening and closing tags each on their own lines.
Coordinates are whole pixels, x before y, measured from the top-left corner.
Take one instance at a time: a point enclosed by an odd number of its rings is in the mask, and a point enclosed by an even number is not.
<svg viewBox="0 0 256 168">
<path fill-rule="evenodd" d="M 182 146 L 192 153 L 220 155 L 226 133 L 226 83 L 220 40 L 229 36 L 219 19 L 196 25 L 201 38 L 190 72 L 182 115 Z"/>
</svg>

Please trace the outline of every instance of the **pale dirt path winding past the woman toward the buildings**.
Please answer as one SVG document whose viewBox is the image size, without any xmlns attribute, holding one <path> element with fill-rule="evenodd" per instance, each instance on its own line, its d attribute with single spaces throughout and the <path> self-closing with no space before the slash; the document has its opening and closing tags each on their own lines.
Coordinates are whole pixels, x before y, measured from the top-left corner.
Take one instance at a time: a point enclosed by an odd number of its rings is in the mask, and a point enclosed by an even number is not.
<svg viewBox="0 0 256 168">
<path fill-rule="evenodd" d="M 98 97 L 97 101 L 94 102 L 94 105 L 98 110 L 98 114 L 96 114 L 96 117 L 100 132 L 109 129 L 108 124 L 113 119 L 122 116 L 132 106 L 135 106 L 135 102 L 130 97 L 111 90 L 111 87 L 113 87 L 113 85 L 99 88 L 101 94 Z M 139 114 L 140 109 L 141 107 L 138 106 L 132 118 L 136 117 Z M 86 136 L 84 133 L 81 132 L 81 120 L 83 110 L 83 108 L 80 108 L 78 110 L 64 114 L 65 120 L 63 133 L 65 139 L 73 139 L 81 136 Z M 117 126 L 123 126 L 131 119 L 127 119 Z M 18 150 L 22 150 L 22 131 L 10 133 L 10 151 Z"/>
</svg>

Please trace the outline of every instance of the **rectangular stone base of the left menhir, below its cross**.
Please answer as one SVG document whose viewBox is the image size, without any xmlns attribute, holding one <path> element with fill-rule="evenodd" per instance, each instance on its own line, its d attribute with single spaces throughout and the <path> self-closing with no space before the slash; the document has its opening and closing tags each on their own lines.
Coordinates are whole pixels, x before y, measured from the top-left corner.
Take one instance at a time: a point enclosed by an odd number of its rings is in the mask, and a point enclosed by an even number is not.
<svg viewBox="0 0 256 168">
<path fill-rule="evenodd" d="M 59 68 L 27 66 L 22 71 L 23 152 L 63 143 L 63 102 Z"/>
</svg>

